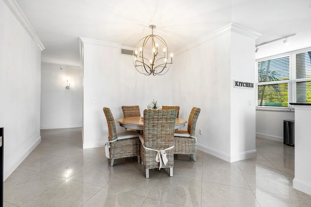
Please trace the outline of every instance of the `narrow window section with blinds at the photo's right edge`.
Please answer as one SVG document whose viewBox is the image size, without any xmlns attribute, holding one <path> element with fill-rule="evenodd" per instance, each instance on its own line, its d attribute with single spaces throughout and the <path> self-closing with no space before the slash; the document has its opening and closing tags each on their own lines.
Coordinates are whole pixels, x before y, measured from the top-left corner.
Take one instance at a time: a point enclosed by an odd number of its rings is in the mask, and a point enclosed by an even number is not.
<svg viewBox="0 0 311 207">
<path fill-rule="evenodd" d="M 311 51 L 296 54 L 296 102 L 311 103 Z"/>
</svg>

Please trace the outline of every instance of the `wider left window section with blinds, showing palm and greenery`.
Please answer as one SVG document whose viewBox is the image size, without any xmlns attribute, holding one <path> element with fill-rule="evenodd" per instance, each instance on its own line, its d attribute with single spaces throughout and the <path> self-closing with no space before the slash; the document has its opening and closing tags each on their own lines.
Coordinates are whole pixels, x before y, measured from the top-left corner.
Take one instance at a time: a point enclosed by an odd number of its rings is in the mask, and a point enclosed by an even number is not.
<svg viewBox="0 0 311 207">
<path fill-rule="evenodd" d="M 288 107 L 290 57 L 258 63 L 258 106 Z"/>
</svg>

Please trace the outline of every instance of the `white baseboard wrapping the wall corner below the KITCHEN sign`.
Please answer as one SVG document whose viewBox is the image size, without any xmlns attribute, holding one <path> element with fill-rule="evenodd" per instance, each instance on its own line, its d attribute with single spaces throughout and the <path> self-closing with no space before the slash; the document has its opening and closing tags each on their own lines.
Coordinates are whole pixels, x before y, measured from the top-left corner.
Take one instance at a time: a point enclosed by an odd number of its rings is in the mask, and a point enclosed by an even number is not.
<svg viewBox="0 0 311 207">
<path fill-rule="evenodd" d="M 236 161 L 243 160 L 243 159 L 255 158 L 257 156 L 257 150 L 256 149 L 250 150 L 247 152 L 238 153 L 238 154 L 231 156 L 227 153 L 224 153 L 224 152 L 221 152 L 219 150 L 210 148 L 210 147 L 205 146 L 203 144 L 197 144 L 196 148 L 203 151 L 203 152 L 206 152 L 210 155 L 213 155 L 217 158 L 224 159 L 227 162 L 236 162 Z"/>
</svg>

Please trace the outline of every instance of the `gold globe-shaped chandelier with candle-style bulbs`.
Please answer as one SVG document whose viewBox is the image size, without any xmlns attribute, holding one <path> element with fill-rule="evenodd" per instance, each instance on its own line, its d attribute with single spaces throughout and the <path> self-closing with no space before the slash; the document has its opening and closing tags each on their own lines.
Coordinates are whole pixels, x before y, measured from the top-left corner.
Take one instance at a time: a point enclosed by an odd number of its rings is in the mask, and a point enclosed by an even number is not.
<svg viewBox="0 0 311 207">
<path fill-rule="evenodd" d="M 146 76 L 164 75 L 173 64 L 173 54 L 170 54 L 164 39 L 154 35 L 156 26 L 150 25 L 149 28 L 152 33 L 141 38 L 134 47 L 133 63 L 136 70 Z"/>
</svg>

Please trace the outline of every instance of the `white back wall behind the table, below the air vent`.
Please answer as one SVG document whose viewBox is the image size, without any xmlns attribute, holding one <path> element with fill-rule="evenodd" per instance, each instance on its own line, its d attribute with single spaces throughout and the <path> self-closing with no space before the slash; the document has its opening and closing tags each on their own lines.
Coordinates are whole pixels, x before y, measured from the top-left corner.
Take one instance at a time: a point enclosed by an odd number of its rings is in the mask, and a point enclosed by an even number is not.
<svg viewBox="0 0 311 207">
<path fill-rule="evenodd" d="M 123 117 L 122 105 L 138 105 L 143 114 L 153 99 L 162 105 L 172 104 L 174 67 L 164 76 L 144 76 L 136 71 L 132 56 L 121 54 L 120 45 L 81 40 L 84 148 L 104 146 L 108 140 L 103 107 L 111 109 L 117 130 L 124 130 L 117 123 Z"/>
</svg>

